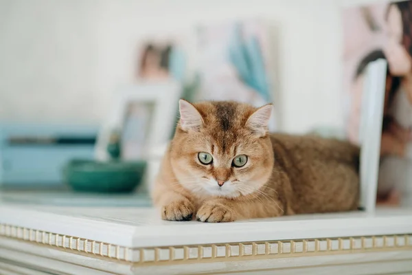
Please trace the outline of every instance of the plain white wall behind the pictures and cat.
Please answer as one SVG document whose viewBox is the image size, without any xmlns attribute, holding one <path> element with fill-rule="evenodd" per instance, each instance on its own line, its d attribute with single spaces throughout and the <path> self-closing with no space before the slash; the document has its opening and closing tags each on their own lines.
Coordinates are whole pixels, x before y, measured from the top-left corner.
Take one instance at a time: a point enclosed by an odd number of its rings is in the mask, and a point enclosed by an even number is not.
<svg viewBox="0 0 412 275">
<path fill-rule="evenodd" d="M 100 122 L 130 79 L 132 42 L 262 17 L 279 31 L 282 129 L 343 126 L 339 7 L 358 2 L 0 0 L 0 121 Z"/>
</svg>

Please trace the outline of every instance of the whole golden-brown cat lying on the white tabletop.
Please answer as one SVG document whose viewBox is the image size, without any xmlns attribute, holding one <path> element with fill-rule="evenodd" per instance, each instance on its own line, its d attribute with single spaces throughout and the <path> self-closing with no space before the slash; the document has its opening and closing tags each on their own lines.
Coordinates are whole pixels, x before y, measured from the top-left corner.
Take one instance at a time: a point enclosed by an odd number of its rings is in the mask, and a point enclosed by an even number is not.
<svg viewBox="0 0 412 275">
<path fill-rule="evenodd" d="M 228 222 L 356 210 L 359 148 L 268 133 L 272 109 L 180 100 L 180 120 L 152 188 L 162 219 Z"/>
</svg>

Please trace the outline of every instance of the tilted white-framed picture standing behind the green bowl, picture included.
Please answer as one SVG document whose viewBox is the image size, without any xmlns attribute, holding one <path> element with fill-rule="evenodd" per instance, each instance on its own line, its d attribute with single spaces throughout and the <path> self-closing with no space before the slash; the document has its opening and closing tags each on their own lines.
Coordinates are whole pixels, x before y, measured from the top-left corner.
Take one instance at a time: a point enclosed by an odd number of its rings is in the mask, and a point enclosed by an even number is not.
<svg viewBox="0 0 412 275">
<path fill-rule="evenodd" d="M 170 140 L 180 95 L 181 85 L 174 80 L 147 81 L 120 90 L 98 135 L 95 158 L 111 158 L 107 146 L 117 132 L 122 144 L 120 158 L 148 160 L 146 180 L 152 181 L 161 161 L 161 155 L 153 152 L 162 152 Z"/>
</svg>

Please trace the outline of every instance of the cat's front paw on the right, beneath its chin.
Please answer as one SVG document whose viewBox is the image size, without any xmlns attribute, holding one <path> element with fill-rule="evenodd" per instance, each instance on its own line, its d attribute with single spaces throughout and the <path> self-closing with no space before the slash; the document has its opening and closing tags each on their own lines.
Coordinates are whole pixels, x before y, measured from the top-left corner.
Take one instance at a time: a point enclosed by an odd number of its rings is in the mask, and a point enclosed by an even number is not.
<svg viewBox="0 0 412 275">
<path fill-rule="evenodd" d="M 205 223 L 225 223 L 235 220 L 235 212 L 229 206 L 211 201 L 198 210 L 197 220 Z"/>
</svg>

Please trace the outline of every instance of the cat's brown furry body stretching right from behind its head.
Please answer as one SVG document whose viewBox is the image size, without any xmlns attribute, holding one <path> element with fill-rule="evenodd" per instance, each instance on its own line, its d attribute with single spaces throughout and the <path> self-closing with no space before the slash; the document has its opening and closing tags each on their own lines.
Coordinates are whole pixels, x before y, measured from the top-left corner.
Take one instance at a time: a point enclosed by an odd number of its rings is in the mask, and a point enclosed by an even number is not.
<svg viewBox="0 0 412 275">
<path fill-rule="evenodd" d="M 273 133 L 270 138 L 274 170 L 288 175 L 295 213 L 356 209 L 358 146 L 316 135 Z"/>
</svg>

